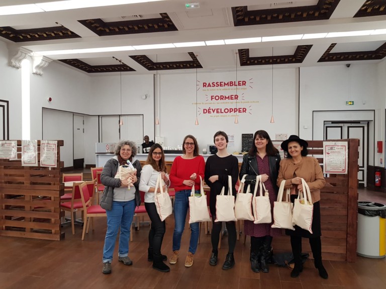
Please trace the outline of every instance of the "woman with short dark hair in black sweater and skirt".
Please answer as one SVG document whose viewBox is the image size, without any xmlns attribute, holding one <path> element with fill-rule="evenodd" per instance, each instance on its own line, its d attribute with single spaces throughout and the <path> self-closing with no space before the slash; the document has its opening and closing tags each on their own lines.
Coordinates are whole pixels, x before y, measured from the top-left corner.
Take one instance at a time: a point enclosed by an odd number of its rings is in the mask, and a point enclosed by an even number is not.
<svg viewBox="0 0 386 289">
<path fill-rule="evenodd" d="M 213 137 L 217 148 L 216 155 L 208 158 L 205 165 L 205 182 L 211 188 L 209 207 L 212 214 L 212 255 L 209 259 L 209 264 L 217 265 L 218 261 L 218 246 L 220 241 L 220 232 L 222 222 L 216 220 L 216 196 L 221 194 L 221 190 L 225 187 L 225 192 L 228 191 L 228 176 L 232 177 L 232 193 L 236 196 L 235 185 L 239 176 L 239 163 L 235 156 L 229 155 L 227 152 L 228 135 L 224 131 L 217 131 Z M 235 265 L 233 252 L 236 246 L 236 222 L 226 222 L 228 230 L 228 253 L 225 257 L 223 269 L 228 270 Z"/>
</svg>

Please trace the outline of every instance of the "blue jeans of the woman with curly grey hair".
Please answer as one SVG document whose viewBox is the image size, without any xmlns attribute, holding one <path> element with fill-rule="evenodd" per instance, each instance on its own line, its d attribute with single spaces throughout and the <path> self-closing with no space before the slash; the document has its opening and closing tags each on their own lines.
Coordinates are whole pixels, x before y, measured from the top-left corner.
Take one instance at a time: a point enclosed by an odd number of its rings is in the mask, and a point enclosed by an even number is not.
<svg viewBox="0 0 386 289">
<path fill-rule="evenodd" d="M 106 210 L 107 214 L 107 232 L 105 237 L 105 245 L 103 246 L 103 262 L 111 262 L 117 239 L 119 234 L 118 256 L 126 257 L 129 253 L 130 229 L 133 222 L 135 210 L 135 200 L 127 202 L 113 201 L 111 210 Z"/>
</svg>

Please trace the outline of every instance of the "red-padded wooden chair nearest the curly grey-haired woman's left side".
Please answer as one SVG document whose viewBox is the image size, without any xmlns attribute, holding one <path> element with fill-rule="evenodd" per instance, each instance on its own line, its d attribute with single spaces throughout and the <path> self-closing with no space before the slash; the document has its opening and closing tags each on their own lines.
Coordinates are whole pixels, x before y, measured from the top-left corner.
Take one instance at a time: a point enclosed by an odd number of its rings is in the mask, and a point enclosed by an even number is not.
<svg viewBox="0 0 386 289">
<path fill-rule="evenodd" d="M 92 217 L 107 217 L 105 209 L 101 208 L 100 205 L 92 205 L 92 194 L 94 192 L 93 184 L 94 183 L 90 181 L 80 185 L 80 197 L 84 213 L 82 240 L 84 240 L 84 233 L 87 232 L 88 234 L 90 223 L 92 226 Z"/>
</svg>

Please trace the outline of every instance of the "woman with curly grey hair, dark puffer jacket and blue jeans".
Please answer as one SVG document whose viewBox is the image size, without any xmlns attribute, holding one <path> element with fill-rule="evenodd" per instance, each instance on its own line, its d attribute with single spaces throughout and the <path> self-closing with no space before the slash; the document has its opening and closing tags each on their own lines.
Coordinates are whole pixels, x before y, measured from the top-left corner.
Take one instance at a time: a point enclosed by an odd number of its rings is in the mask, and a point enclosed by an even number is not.
<svg viewBox="0 0 386 289">
<path fill-rule="evenodd" d="M 102 272 L 104 274 L 111 273 L 111 262 L 119 229 L 121 229 L 121 233 L 119 235 L 118 261 L 125 265 L 133 264 L 128 257 L 130 229 L 134 209 L 141 204 L 138 190 L 141 164 L 135 158 L 137 155 L 136 144 L 130 140 L 121 141 L 117 145 L 115 155 L 107 161 L 101 174 L 101 182 L 105 185 L 101 207 L 106 210 L 107 214 L 107 231 L 103 247 Z M 133 170 L 133 173 L 130 173 L 131 182 L 134 183 L 133 187 L 129 186 L 128 180 L 121 181 L 119 178 L 115 178 L 118 168 L 122 165 L 136 169 L 136 172 Z"/>
</svg>

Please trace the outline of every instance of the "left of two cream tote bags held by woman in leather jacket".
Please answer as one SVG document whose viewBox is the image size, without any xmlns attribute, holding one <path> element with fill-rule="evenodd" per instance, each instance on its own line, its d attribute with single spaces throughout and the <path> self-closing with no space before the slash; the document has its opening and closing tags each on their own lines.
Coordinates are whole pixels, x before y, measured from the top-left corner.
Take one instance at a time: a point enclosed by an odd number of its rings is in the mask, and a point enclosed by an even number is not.
<svg viewBox="0 0 386 289">
<path fill-rule="evenodd" d="M 248 185 L 247 192 L 244 194 L 245 176 L 241 179 L 239 190 L 235 201 L 235 217 L 237 220 L 254 221 L 252 213 L 252 194 L 250 194 L 251 185 Z"/>
</svg>

